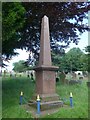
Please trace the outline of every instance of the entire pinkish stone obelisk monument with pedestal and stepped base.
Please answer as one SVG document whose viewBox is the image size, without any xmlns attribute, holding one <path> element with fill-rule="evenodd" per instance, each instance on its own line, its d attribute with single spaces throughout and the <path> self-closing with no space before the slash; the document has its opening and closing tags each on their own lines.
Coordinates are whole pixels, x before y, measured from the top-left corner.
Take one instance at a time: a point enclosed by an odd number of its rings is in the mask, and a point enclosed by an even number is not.
<svg viewBox="0 0 90 120">
<path fill-rule="evenodd" d="M 34 70 L 36 76 L 36 94 L 29 101 L 29 105 L 36 106 L 36 96 L 40 95 L 41 110 L 61 107 L 63 102 L 60 101 L 60 97 L 56 93 L 55 85 L 55 72 L 58 70 L 58 67 L 52 66 L 47 16 L 42 18 L 39 64 Z"/>
</svg>

